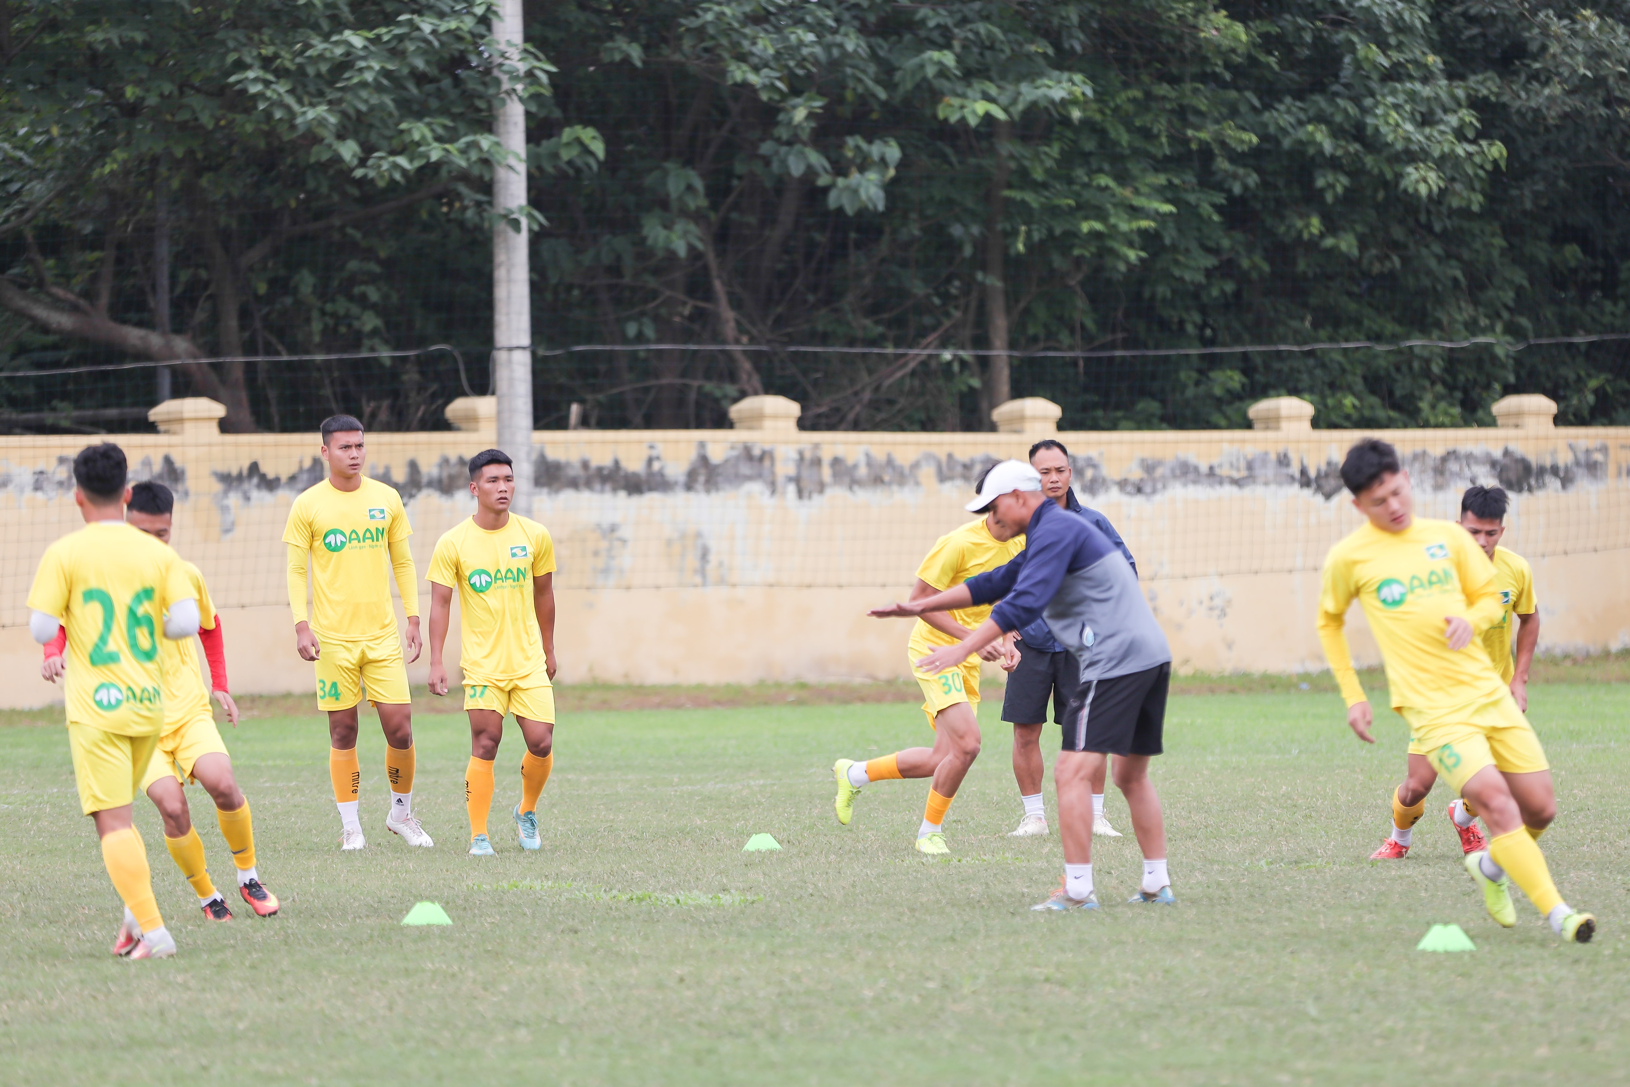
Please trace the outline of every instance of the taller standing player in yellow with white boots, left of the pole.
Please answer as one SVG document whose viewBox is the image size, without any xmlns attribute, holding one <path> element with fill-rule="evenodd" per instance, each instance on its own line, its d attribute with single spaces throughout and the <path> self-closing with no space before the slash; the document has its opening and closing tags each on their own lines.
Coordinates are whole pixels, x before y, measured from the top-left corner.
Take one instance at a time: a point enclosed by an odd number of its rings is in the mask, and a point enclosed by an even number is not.
<svg viewBox="0 0 1630 1087">
<path fill-rule="evenodd" d="M 401 495 L 362 474 L 362 424 L 352 416 L 323 420 L 328 479 L 306 489 L 289 510 L 289 606 L 295 649 L 316 662 L 316 704 L 328 712 L 328 774 L 339 808 L 341 849 L 362 849 L 357 815 L 362 769 L 357 764 L 357 706 L 368 701 L 385 732 L 385 774 L 391 807 L 385 830 L 409 846 L 434 846 L 412 813 L 412 701 L 408 665 L 419 660 L 419 575 L 408 549 L 408 512 Z M 388 559 L 386 559 L 388 556 Z M 386 566 L 408 614 L 408 636 L 396 636 L 396 611 Z M 311 616 L 306 618 L 310 567 Z M 403 662 L 403 642 L 408 660 Z"/>
</svg>

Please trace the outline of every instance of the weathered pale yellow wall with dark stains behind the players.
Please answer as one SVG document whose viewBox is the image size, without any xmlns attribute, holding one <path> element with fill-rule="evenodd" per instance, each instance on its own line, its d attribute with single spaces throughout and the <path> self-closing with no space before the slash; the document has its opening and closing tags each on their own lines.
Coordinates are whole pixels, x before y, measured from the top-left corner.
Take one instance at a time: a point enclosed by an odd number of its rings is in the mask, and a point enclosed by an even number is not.
<svg viewBox="0 0 1630 1087">
<path fill-rule="evenodd" d="M 1314 430 L 1063 433 L 1082 500 L 1126 538 L 1177 665 L 1324 667 L 1319 564 L 1351 531 L 1335 466 L 1359 435 Z M 1508 546 L 1534 562 L 1542 649 L 1630 645 L 1630 429 L 1397 430 L 1420 513 L 1472 482 L 1513 492 Z M 908 624 L 866 606 L 911 585 L 1002 433 L 538 432 L 533 513 L 556 539 L 561 681 L 859 680 L 905 671 Z M 178 492 L 176 548 L 223 608 L 233 688 L 311 689 L 285 603 L 284 520 L 321 477 L 316 435 L 129 435 L 134 477 Z M 72 437 L 0 438 L 0 706 L 37 678 L 24 598 L 41 551 L 78 526 Z M 372 433 L 368 474 L 403 491 L 421 577 L 473 510 L 463 461 L 491 433 Z M 422 582 L 421 582 L 422 583 Z M 427 598 L 421 603 L 427 608 Z M 455 610 L 456 621 L 456 610 Z M 1355 610 L 1355 624 L 1361 619 Z M 1355 652 L 1374 662 L 1359 629 Z M 456 627 L 448 660 L 456 660 Z M 411 668 L 424 680 L 425 660 Z"/>
</svg>

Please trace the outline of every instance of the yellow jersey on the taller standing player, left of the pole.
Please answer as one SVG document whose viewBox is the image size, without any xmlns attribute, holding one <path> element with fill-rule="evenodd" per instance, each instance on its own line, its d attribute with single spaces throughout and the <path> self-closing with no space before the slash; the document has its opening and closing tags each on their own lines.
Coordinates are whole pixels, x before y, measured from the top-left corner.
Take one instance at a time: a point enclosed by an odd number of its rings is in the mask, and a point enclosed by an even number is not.
<svg viewBox="0 0 1630 1087">
<path fill-rule="evenodd" d="M 355 491 L 324 479 L 289 508 L 284 543 L 311 552 L 311 629 L 339 642 L 367 642 L 396 632 L 390 546 L 408 539 L 408 510 L 396 487 L 362 477 Z M 293 606 L 305 621 L 305 600 Z M 419 601 L 403 601 L 417 614 Z"/>
</svg>

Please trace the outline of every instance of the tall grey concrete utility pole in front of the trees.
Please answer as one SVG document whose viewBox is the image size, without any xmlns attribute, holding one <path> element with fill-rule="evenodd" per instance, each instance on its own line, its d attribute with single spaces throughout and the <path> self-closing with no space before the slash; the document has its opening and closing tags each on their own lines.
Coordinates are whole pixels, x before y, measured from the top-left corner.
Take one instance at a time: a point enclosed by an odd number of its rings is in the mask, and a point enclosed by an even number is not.
<svg viewBox="0 0 1630 1087">
<path fill-rule="evenodd" d="M 492 16 L 492 41 L 502 60 L 520 55 L 522 0 L 499 0 Z M 505 88 L 510 80 L 505 78 Z M 504 213 L 526 204 L 526 111 L 520 98 L 505 93 L 492 117 L 492 132 L 515 156 L 492 173 L 492 210 Z M 531 264 L 525 222 L 520 230 L 499 222 L 492 227 L 492 376 L 497 393 L 499 448 L 515 461 L 515 497 L 510 508 L 531 517 Z"/>
</svg>

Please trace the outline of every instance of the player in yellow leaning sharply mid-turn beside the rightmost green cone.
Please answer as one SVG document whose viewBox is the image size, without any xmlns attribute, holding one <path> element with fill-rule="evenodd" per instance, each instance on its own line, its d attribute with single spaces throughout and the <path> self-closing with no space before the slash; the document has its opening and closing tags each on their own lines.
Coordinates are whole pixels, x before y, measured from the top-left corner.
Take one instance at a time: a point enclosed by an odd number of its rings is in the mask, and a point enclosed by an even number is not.
<svg viewBox="0 0 1630 1087">
<path fill-rule="evenodd" d="M 1412 743 L 1488 826 L 1488 849 L 1465 857 L 1488 914 L 1504 927 L 1516 924 L 1509 875 L 1552 931 L 1586 944 L 1596 918 L 1562 900 L 1539 849 L 1557 813 L 1550 764 L 1478 639 L 1501 616 L 1495 567 L 1459 525 L 1415 517 L 1408 473 L 1386 442 L 1355 445 L 1341 482 L 1368 523 L 1325 557 L 1319 640 L 1346 699 L 1346 724 L 1374 743 L 1343 631 L 1358 600 Z"/>
</svg>

